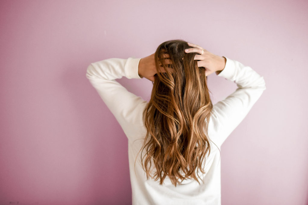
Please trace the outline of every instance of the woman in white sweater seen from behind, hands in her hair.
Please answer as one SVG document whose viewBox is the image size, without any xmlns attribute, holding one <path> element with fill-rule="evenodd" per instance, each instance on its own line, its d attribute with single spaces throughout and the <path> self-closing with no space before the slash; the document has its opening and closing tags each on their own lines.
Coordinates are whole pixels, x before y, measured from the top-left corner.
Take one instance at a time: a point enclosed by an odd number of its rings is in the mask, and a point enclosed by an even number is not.
<svg viewBox="0 0 308 205">
<path fill-rule="evenodd" d="M 214 72 L 237 84 L 215 105 Z M 220 147 L 266 89 L 263 77 L 180 39 L 145 58 L 91 63 L 86 76 L 128 137 L 133 204 L 221 204 Z M 151 80 L 149 102 L 115 81 L 123 76 Z"/>
</svg>

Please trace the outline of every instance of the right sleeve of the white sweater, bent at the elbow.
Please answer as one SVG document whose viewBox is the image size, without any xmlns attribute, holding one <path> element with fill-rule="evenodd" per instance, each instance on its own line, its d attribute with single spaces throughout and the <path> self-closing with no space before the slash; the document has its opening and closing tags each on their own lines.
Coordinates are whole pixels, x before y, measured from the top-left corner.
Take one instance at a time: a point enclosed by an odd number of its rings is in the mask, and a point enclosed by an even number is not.
<svg viewBox="0 0 308 205">
<path fill-rule="evenodd" d="M 209 120 L 209 127 L 212 129 L 208 133 L 209 138 L 220 147 L 245 118 L 266 87 L 264 78 L 251 67 L 229 58 L 226 58 L 225 68 L 217 76 L 237 84 L 237 89 L 232 94 L 213 105 Z"/>
</svg>

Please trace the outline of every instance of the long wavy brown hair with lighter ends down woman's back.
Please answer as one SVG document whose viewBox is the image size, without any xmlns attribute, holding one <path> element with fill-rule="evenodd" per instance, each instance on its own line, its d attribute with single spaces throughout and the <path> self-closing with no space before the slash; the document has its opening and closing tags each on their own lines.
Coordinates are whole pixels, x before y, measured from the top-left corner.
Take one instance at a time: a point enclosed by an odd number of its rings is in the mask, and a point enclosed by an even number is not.
<svg viewBox="0 0 308 205">
<path fill-rule="evenodd" d="M 192 178 L 200 184 L 198 171 L 205 173 L 205 155 L 211 151 L 207 129 L 213 104 L 205 68 L 198 67 L 194 60 L 197 53 L 184 52 L 187 48 L 192 47 L 181 39 L 157 47 L 157 74 L 143 112 L 147 135 L 140 150 L 146 151 L 144 156 L 141 154 L 142 168 L 147 179 L 159 179 L 160 185 L 166 176 L 175 186 Z M 171 64 L 164 60 L 166 54 Z M 160 72 L 160 64 L 166 72 Z M 154 175 L 152 163 L 156 168 Z"/>
</svg>

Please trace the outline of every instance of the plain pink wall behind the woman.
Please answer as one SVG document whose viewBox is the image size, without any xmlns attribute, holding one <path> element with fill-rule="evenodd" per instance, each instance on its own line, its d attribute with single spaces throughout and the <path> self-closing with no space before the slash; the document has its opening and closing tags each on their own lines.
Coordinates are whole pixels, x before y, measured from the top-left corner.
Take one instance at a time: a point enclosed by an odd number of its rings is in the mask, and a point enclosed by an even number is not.
<svg viewBox="0 0 308 205">
<path fill-rule="evenodd" d="M 91 62 L 181 38 L 267 89 L 222 146 L 222 204 L 308 200 L 307 1 L 1 1 L 0 204 L 131 204 L 127 139 Z M 209 76 L 213 101 L 235 90 Z M 148 100 L 152 82 L 118 80 Z"/>
</svg>

